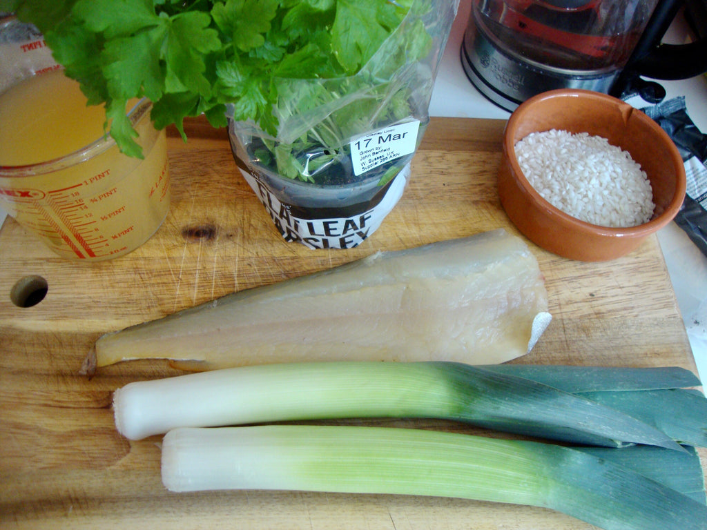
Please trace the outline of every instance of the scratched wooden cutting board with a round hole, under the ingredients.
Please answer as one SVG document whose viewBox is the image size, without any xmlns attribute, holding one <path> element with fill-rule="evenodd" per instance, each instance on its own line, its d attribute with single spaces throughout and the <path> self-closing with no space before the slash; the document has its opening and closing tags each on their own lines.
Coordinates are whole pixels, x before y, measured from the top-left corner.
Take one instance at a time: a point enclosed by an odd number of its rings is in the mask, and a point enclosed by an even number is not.
<svg viewBox="0 0 707 530">
<path fill-rule="evenodd" d="M 0 527 L 3 529 L 588 530 L 549 510 L 395 495 L 225 492 L 173 494 L 160 482 L 160 438 L 117 434 L 112 391 L 177 373 L 163 362 L 78 374 L 100 334 L 163 317 L 234 290 L 509 224 L 496 194 L 505 122 L 433 119 L 398 206 L 351 250 L 281 239 L 238 174 L 223 130 L 170 131 L 170 214 L 126 257 L 63 261 L 12 219 L 0 231 Z M 607 263 L 580 263 L 530 244 L 547 278 L 549 329 L 520 363 L 695 369 L 658 240 Z M 34 307 L 13 305 L 23 278 L 47 281 Z M 380 423 L 380 422 L 379 422 Z M 389 422 L 467 428 L 437 422 Z M 705 453 L 703 452 L 703 457 Z"/>
</svg>

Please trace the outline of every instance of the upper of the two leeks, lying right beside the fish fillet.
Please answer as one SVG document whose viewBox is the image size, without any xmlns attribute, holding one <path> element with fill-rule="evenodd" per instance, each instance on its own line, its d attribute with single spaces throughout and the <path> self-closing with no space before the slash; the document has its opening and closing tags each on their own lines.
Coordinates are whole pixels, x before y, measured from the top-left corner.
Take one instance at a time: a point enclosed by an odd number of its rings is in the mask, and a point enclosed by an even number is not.
<svg viewBox="0 0 707 530">
<path fill-rule="evenodd" d="M 682 450 L 664 432 L 582 396 L 460 363 L 287 363 L 130 383 L 115 423 L 139 440 L 177 427 L 327 418 L 444 418 L 573 443 Z"/>
</svg>

